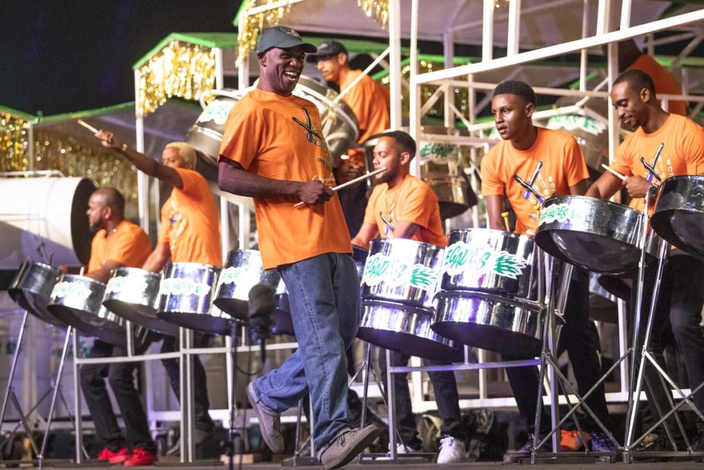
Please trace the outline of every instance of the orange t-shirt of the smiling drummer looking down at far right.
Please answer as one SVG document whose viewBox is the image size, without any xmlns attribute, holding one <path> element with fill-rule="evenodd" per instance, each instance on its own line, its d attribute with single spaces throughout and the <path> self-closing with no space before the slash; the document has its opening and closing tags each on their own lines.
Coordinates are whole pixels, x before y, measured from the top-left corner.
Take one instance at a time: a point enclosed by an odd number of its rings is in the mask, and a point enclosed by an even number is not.
<svg viewBox="0 0 704 470">
<path fill-rule="evenodd" d="M 627 176 L 648 178 L 650 173 L 643 166 L 641 156 L 652 164 L 660 144 L 665 144 L 665 147 L 655 163 L 655 171 L 662 180 L 670 176 L 704 174 L 704 129 L 690 118 L 678 114 L 670 114 L 665 124 L 651 134 L 638 128 L 627 135 L 616 149 L 614 161 L 609 166 Z M 653 183 L 658 183 L 658 180 Z M 643 198 L 631 199 L 629 206 L 642 211 Z"/>
</svg>

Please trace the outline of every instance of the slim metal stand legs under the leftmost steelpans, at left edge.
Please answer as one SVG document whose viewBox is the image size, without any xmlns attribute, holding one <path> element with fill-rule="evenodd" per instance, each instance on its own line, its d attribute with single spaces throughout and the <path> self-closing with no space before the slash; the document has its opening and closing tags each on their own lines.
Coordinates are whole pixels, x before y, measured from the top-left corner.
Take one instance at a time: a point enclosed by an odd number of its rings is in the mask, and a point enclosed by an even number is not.
<svg viewBox="0 0 704 470">
<path fill-rule="evenodd" d="M 34 454 L 37 454 L 37 461 L 38 461 L 38 466 L 39 468 L 42 468 L 42 464 L 44 463 L 44 452 L 46 451 L 46 444 L 49 441 L 49 431 L 51 431 L 51 421 L 54 417 L 54 409 L 56 407 L 56 399 L 61 398 L 61 402 L 63 402 L 64 408 L 68 412 L 69 419 L 73 421 L 73 416 L 71 416 L 68 404 L 66 403 L 65 397 L 63 397 L 63 394 L 61 393 L 61 375 L 63 373 L 63 365 L 66 360 L 66 353 L 68 352 L 68 344 L 69 344 L 69 338 L 71 336 L 71 333 L 73 331 L 73 328 L 68 326 L 66 328 L 66 334 L 63 340 L 63 350 L 61 351 L 61 360 L 59 361 L 58 364 L 58 371 L 56 373 L 56 380 L 54 381 L 54 385 L 49 388 L 49 390 L 46 390 L 44 392 L 44 395 L 42 395 L 41 398 L 37 401 L 36 404 L 30 409 L 30 411 L 27 414 L 24 414 L 22 407 L 20 406 L 20 402 L 17 399 L 17 395 L 15 395 L 15 391 L 13 390 L 13 380 L 15 378 L 15 370 L 17 369 L 17 361 L 18 357 L 20 354 L 20 348 L 22 347 L 22 342 L 25 337 L 25 327 L 27 326 L 27 316 L 29 315 L 29 312 L 25 310 L 25 313 L 23 314 L 23 319 L 22 319 L 22 325 L 20 326 L 20 333 L 18 334 L 17 338 L 17 346 L 15 347 L 15 352 L 13 353 L 12 357 L 12 362 L 10 366 L 10 373 L 7 379 L 7 386 L 5 389 L 5 395 L 3 397 L 2 404 L 0 405 L 0 428 L 2 427 L 4 421 L 5 421 L 5 412 L 7 410 L 7 405 L 8 405 L 8 400 L 11 400 L 15 410 L 17 411 L 19 418 L 20 418 L 20 424 L 18 426 L 15 426 L 13 429 L 12 433 L 15 433 L 18 429 L 19 426 L 22 426 L 25 429 L 25 433 L 27 433 L 27 436 L 30 438 L 30 445 L 32 446 L 32 451 Z M 51 404 L 49 406 L 49 414 L 46 417 L 46 429 L 44 430 L 44 436 L 42 438 L 42 445 L 37 449 L 37 444 L 34 443 L 34 439 L 32 439 L 32 429 L 30 428 L 29 423 L 27 422 L 27 416 L 32 414 L 34 410 L 36 410 L 44 400 L 46 400 L 46 397 L 49 397 L 49 393 L 51 392 Z M 81 448 L 82 452 L 87 456 L 87 452 L 84 447 Z"/>
</svg>

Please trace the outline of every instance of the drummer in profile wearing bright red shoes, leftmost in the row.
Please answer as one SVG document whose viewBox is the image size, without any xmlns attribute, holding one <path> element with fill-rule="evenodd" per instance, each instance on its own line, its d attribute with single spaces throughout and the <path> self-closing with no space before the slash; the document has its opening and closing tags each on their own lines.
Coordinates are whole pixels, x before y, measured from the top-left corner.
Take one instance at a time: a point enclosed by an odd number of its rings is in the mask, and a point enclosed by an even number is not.
<svg viewBox="0 0 704 470">
<path fill-rule="evenodd" d="M 137 268 L 151 252 L 151 241 L 139 225 L 125 219 L 125 198 L 114 187 L 101 187 L 88 199 L 88 221 L 95 233 L 86 276 L 108 282 L 113 269 Z M 127 356 L 125 347 L 95 340 L 89 357 Z M 151 465 L 157 461 L 156 443 L 139 392 L 134 388 L 134 370 L 139 362 L 85 364 L 81 367 L 81 388 L 96 433 L 105 447 L 98 459 L 125 466 Z M 122 435 L 105 386 L 108 378 L 125 421 L 127 439 Z"/>
</svg>

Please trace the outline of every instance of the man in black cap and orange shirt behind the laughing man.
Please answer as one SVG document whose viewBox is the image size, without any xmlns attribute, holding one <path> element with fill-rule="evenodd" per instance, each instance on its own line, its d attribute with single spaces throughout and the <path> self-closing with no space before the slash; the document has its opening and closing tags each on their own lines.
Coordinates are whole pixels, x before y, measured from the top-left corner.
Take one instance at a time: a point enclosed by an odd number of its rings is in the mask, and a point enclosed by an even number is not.
<svg viewBox="0 0 704 470">
<path fill-rule="evenodd" d="M 306 61 L 318 63 L 322 78 L 337 85 L 341 92 L 362 74 L 362 70 L 350 68 L 347 49 L 337 41 L 322 42 L 318 52 L 310 54 Z M 359 123 L 359 144 L 363 144 L 372 135 L 389 129 L 389 90 L 372 80 L 369 75 L 363 76 L 343 99 Z M 364 168 L 364 151 L 361 147 L 351 149 L 348 156 L 351 163 Z M 358 185 L 341 190 L 339 194 L 351 236 L 356 235 L 362 228 L 364 209 L 367 205 L 365 192 L 366 185 Z"/>
</svg>

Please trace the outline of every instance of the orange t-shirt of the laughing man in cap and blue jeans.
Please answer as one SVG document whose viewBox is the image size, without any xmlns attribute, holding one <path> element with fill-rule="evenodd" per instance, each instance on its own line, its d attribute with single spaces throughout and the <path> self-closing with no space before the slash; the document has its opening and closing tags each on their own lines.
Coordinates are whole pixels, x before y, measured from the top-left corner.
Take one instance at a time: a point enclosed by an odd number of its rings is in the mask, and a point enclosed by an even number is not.
<svg viewBox="0 0 704 470">
<path fill-rule="evenodd" d="M 332 159 L 315 104 L 254 89 L 227 115 L 220 158 L 273 180 L 320 180 L 334 187 Z M 294 207 L 297 197 L 255 198 L 259 249 L 265 269 L 324 253 L 351 253 L 335 194 L 325 204 Z"/>
</svg>

